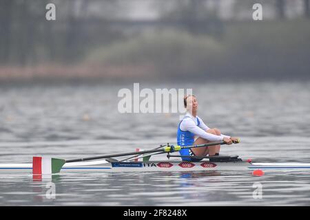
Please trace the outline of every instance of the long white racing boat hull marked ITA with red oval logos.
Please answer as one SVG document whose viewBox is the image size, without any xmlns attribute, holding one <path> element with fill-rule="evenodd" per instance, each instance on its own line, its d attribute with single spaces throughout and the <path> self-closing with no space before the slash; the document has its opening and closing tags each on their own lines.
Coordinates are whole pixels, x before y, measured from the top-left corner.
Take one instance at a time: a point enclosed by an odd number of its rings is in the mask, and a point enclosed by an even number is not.
<svg viewBox="0 0 310 220">
<path fill-rule="evenodd" d="M 61 168 L 61 173 L 134 172 L 134 171 L 208 171 L 208 170 L 310 170 L 307 163 L 251 163 L 251 162 L 72 162 Z M 32 164 L 0 164 L 0 173 L 32 173 Z"/>
</svg>

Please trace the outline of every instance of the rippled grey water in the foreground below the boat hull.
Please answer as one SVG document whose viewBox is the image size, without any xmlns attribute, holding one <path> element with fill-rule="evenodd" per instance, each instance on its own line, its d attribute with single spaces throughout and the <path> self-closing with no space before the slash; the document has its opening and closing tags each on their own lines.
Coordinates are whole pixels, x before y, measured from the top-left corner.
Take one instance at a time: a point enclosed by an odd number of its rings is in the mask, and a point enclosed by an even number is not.
<svg viewBox="0 0 310 220">
<path fill-rule="evenodd" d="M 1 199 L 19 205 L 309 205 L 310 175 L 249 172 L 66 173 L 51 178 L 0 175 Z M 254 199 L 253 184 L 263 186 Z M 283 200 L 284 199 L 284 200 Z M 200 204 L 200 205 L 199 205 Z"/>
</svg>

